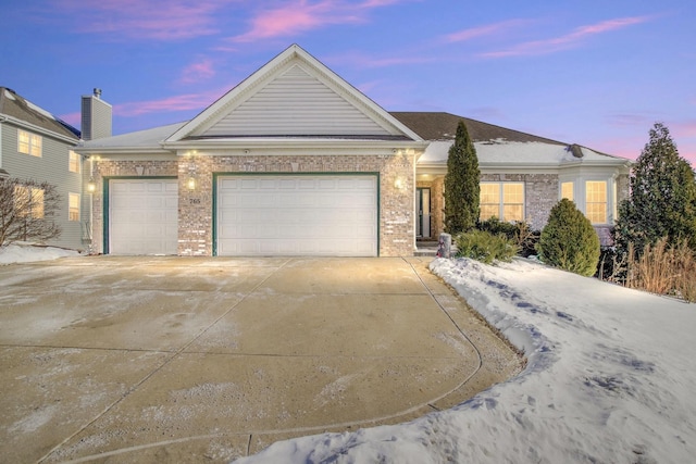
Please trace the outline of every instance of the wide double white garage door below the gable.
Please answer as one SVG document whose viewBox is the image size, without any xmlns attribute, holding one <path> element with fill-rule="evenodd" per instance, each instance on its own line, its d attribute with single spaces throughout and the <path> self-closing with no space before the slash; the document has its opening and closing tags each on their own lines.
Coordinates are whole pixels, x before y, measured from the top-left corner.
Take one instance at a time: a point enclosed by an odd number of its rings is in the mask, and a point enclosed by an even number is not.
<svg viewBox="0 0 696 464">
<path fill-rule="evenodd" d="M 221 176 L 216 221 L 221 256 L 376 256 L 376 176 Z"/>
</svg>

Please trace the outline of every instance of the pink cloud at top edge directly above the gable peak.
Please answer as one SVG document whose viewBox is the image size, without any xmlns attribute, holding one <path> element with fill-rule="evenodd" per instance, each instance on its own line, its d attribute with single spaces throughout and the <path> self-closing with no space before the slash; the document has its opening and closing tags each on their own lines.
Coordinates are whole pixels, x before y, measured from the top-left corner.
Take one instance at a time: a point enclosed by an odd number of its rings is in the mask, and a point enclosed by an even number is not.
<svg viewBox="0 0 696 464">
<path fill-rule="evenodd" d="M 235 42 L 250 42 L 274 37 L 293 36 L 332 24 L 355 24 L 366 21 L 369 10 L 403 0 L 366 0 L 351 4 L 341 0 L 295 0 L 276 9 L 260 11 L 250 21 L 250 30 L 232 37 Z"/>
</svg>

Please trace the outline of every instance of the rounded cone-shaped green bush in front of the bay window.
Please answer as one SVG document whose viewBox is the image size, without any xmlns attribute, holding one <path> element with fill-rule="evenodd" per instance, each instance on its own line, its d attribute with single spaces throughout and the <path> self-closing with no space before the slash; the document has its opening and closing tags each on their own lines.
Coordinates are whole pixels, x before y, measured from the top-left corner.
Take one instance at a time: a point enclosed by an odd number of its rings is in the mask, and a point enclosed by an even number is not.
<svg viewBox="0 0 696 464">
<path fill-rule="evenodd" d="M 536 250 L 551 266 L 583 276 L 597 272 L 599 237 L 589 220 L 566 198 L 551 209 Z"/>
</svg>

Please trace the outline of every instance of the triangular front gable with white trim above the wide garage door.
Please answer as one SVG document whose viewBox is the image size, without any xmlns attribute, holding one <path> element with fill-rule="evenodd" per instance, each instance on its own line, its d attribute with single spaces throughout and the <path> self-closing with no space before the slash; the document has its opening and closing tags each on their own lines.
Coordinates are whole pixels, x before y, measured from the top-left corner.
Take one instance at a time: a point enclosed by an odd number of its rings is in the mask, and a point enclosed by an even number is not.
<svg viewBox="0 0 696 464">
<path fill-rule="evenodd" d="M 311 137 L 422 138 L 293 45 L 165 140 Z"/>
</svg>

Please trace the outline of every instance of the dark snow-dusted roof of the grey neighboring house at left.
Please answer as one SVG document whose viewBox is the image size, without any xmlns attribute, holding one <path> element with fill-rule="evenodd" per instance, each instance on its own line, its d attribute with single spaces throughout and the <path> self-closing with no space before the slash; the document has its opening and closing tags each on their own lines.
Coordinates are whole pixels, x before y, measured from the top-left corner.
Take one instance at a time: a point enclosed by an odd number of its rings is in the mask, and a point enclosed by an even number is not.
<svg viewBox="0 0 696 464">
<path fill-rule="evenodd" d="M 0 114 L 8 116 L 18 125 L 25 123 L 27 126 L 53 133 L 62 138 L 79 140 L 79 130 L 75 127 L 7 87 L 0 87 Z"/>
</svg>

